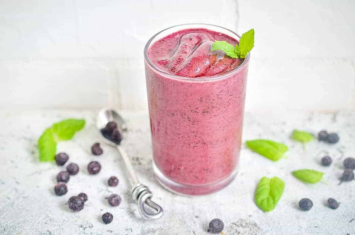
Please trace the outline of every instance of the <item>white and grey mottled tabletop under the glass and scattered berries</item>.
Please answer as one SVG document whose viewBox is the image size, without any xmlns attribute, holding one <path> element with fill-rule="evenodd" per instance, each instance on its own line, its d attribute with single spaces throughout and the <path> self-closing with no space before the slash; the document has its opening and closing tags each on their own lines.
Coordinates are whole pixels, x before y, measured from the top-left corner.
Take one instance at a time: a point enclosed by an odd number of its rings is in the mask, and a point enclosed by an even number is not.
<svg viewBox="0 0 355 235">
<path fill-rule="evenodd" d="M 247 113 L 243 140 L 270 138 L 285 142 L 288 159 L 272 162 L 244 146 L 240 171 L 222 191 L 189 198 L 174 195 L 161 187 L 151 169 L 151 139 L 146 113 L 122 115 L 128 121 L 129 139 L 125 145 L 138 177 L 148 185 L 164 208 L 160 220 L 139 218 L 136 203 L 130 199 L 122 160 L 114 148 L 103 145 L 104 154 L 94 157 L 90 148 L 99 141 L 92 111 L 4 111 L 0 113 L 0 234 L 119 234 L 169 235 L 208 234 L 208 223 L 220 218 L 224 232 L 232 234 L 355 234 L 355 181 L 338 185 L 345 157 L 355 157 L 355 113 Z M 53 187 L 56 174 L 64 167 L 38 161 L 37 139 L 45 127 L 67 117 L 84 117 L 87 125 L 72 141 L 60 142 L 57 151 L 67 152 L 80 172 L 67 183 L 68 193 L 56 196 Z M 339 143 L 328 145 L 313 141 L 304 151 L 302 145 L 289 139 L 294 129 L 317 133 L 321 129 L 337 131 Z M 321 151 L 333 158 L 330 167 L 320 165 Z M 87 164 L 98 160 L 102 170 L 89 175 Z M 290 171 L 311 168 L 324 171 L 329 185 L 305 185 Z M 107 179 L 118 176 L 120 184 L 108 187 Z M 253 202 L 256 185 L 262 176 L 278 176 L 286 183 L 285 192 L 274 211 L 264 213 Z M 72 213 L 65 206 L 71 196 L 88 195 L 84 209 Z M 110 207 L 105 197 L 117 193 L 122 197 L 118 207 Z M 298 209 L 301 198 L 313 201 L 308 212 Z M 326 206 L 328 197 L 341 204 L 337 210 Z M 114 215 L 103 224 L 105 212 Z"/>
</svg>

